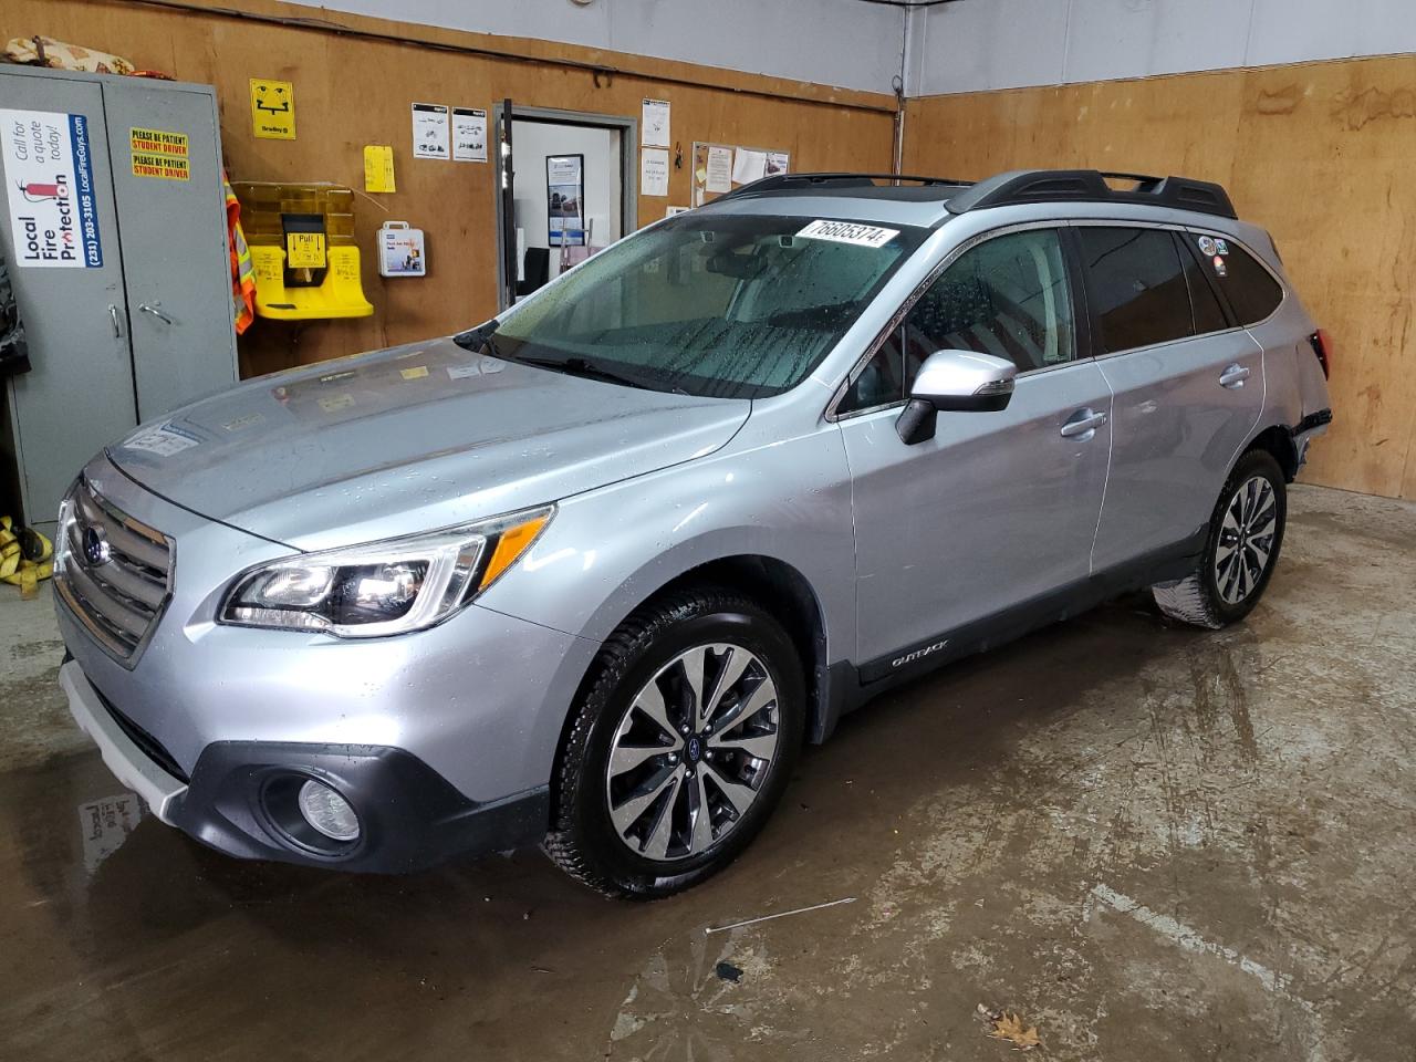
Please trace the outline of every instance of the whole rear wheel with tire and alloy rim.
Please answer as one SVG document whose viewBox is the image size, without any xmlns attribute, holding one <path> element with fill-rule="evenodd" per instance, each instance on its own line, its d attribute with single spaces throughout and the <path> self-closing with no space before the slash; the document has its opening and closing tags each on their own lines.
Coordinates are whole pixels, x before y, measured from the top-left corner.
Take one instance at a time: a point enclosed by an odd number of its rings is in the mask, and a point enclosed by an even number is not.
<svg viewBox="0 0 1416 1062">
<path fill-rule="evenodd" d="M 1219 494 L 1195 572 L 1151 588 L 1155 605 L 1171 619 L 1211 630 L 1247 616 L 1279 562 L 1287 515 L 1283 470 L 1266 450 L 1249 450 Z"/>
</svg>

